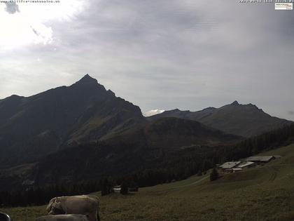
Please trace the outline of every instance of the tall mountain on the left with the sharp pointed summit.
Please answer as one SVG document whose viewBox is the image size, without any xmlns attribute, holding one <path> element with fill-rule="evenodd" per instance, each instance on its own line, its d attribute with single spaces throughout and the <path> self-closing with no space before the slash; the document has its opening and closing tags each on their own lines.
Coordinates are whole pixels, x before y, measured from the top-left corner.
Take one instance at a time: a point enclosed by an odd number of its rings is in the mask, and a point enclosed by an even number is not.
<svg viewBox="0 0 294 221">
<path fill-rule="evenodd" d="M 139 107 L 89 75 L 31 97 L 12 95 L 0 101 L 0 168 L 31 163 L 144 121 Z"/>
</svg>

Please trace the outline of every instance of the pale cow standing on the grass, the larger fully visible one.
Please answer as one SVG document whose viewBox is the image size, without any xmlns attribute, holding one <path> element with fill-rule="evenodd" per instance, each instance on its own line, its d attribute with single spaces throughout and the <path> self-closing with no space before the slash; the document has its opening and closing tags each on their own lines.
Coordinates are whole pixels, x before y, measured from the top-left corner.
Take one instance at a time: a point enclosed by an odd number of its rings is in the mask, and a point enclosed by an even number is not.
<svg viewBox="0 0 294 221">
<path fill-rule="evenodd" d="M 89 221 L 99 221 L 99 198 L 97 196 L 58 196 L 50 200 L 46 208 L 49 215 L 80 214 Z"/>
</svg>

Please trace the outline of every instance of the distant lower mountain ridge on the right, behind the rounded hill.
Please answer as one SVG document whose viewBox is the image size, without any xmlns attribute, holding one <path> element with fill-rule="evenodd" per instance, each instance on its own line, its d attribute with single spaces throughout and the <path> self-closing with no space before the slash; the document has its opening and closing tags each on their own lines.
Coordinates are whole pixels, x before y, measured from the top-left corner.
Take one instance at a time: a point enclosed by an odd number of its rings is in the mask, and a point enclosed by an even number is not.
<svg viewBox="0 0 294 221">
<path fill-rule="evenodd" d="M 162 117 L 178 117 L 199 121 L 204 125 L 222 130 L 225 133 L 245 138 L 260 135 L 270 130 L 281 128 L 293 123 L 285 119 L 270 116 L 255 105 L 240 105 L 237 101 L 220 108 L 208 107 L 198 112 L 181 111 L 179 109 L 165 111 L 162 114 L 149 116 L 153 121 Z"/>
</svg>

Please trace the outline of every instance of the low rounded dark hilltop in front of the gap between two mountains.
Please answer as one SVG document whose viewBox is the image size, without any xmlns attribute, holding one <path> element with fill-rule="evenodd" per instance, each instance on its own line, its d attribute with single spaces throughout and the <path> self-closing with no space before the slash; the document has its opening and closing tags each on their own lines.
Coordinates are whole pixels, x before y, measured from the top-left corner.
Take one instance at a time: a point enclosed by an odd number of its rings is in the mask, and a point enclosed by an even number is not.
<svg viewBox="0 0 294 221">
<path fill-rule="evenodd" d="M 169 149 L 196 145 L 214 146 L 237 142 L 241 139 L 237 135 L 223 133 L 197 121 L 175 117 L 166 117 L 143 123 L 122 133 L 107 135 L 102 138 L 109 144 L 127 142 L 140 145 L 145 142 L 144 145 L 149 147 Z"/>
</svg>

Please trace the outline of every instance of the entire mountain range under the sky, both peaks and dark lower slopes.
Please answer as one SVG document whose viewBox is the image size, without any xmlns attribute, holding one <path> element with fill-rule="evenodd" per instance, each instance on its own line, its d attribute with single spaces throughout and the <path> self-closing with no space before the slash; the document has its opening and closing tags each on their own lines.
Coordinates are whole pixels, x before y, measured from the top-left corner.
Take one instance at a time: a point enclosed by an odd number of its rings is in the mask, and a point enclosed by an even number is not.
<svg viewBox="0 0 294 221">
<path fill-rule="evenodd" d="M 179 150 L 230 145 L 287 123 L 237 102 L 146 118 L 85 75 L 71 86 L 0 100 L 0 190 L 129 173 Z"/>
</svg>

